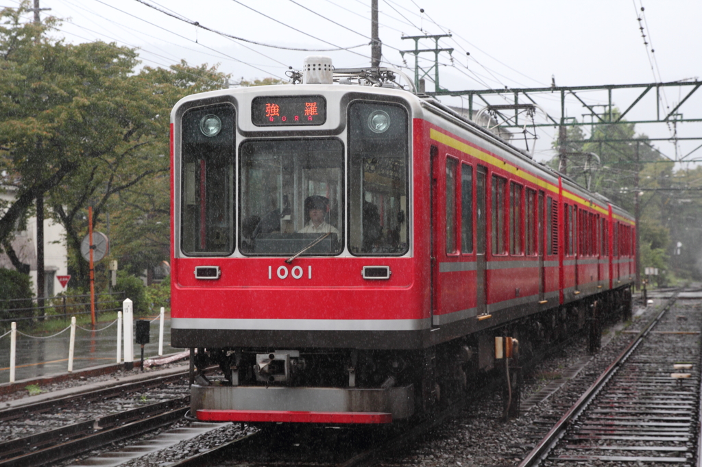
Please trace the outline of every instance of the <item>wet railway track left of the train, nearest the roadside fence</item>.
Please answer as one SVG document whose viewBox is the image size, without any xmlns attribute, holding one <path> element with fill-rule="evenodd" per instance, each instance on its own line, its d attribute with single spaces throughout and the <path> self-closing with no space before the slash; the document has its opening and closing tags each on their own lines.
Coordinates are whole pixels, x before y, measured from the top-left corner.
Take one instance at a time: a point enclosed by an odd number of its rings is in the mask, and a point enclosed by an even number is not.
<svg viewBox="0 0 702 467">
<path fill-rule="evenodd" d="M 0 410 L 0 466 L 42 466 L 183 418 L 187 372 Z"/>
</svg>

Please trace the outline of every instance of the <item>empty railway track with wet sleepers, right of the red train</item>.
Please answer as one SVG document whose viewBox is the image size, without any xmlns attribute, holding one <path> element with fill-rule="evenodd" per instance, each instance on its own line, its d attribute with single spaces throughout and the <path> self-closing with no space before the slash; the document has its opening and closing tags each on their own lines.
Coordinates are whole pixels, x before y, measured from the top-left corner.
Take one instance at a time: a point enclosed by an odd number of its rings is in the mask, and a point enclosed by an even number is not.
<svg viewBox="0 0 702 467">
<path fill-rule="evenodd" d="M 519 467 L 698 465 L 701 329 L 674 295 Z"/>
</svg>

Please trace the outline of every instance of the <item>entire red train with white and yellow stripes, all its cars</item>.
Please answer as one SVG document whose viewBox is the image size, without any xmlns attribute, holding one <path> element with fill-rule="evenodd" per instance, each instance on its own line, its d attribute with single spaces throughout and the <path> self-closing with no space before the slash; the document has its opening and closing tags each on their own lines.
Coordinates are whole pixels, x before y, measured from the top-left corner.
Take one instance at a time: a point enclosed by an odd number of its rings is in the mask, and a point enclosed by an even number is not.
<svg viewBox="0 0 702 467">
<path fill-rule="evenodd" d="M 491 370 L 494 337 L 529 353 L 630 294 L 631 215 L 397 72 L 332 70 L 171 114 L 171 344 L 197 349 L 198 419 L 407 419 Z"/>
</svg>

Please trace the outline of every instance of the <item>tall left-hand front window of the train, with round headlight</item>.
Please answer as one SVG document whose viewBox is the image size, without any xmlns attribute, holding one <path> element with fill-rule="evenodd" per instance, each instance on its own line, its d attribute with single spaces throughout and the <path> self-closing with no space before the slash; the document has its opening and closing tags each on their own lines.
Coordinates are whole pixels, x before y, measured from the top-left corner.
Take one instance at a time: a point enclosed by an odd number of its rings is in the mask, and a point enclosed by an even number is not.
<svg viewBox="0 0 702 467">
<path fill-rule="evenodd" d="M 231 104 L 195 107 L 181 118 L 180 248 L 186 255 L 234 252 L 234 134 Z"/>
</svg>

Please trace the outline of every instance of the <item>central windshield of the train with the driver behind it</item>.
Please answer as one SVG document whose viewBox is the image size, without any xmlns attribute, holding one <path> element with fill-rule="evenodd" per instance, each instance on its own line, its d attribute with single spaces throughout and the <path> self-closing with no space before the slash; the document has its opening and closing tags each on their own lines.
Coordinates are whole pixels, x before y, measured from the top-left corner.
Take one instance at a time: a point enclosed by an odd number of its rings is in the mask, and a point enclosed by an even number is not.
<svg viewBox="0 0 702 467">
<path fill-rule="evenodd" d="M 343 144 L 249 141 L 239 152 L 239 249 L 244 255 L 343 250 Z M 316 242 L 316 243 L 315 243 Z"/>
</svg>

